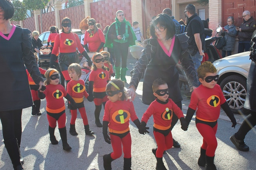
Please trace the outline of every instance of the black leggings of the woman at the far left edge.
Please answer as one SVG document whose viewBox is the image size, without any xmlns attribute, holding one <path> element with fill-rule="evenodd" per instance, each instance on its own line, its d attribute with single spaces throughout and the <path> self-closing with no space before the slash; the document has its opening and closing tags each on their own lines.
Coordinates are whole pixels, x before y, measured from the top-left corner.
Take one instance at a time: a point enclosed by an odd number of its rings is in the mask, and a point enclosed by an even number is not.
<svg viewBox="0 0 256 170">
<path fill-rule="evenodd" d="M 17 138 L 19 147 L 22 133 L 21 115 L 22 109 L 0 111 L 4 141 Z"/>
</svg>

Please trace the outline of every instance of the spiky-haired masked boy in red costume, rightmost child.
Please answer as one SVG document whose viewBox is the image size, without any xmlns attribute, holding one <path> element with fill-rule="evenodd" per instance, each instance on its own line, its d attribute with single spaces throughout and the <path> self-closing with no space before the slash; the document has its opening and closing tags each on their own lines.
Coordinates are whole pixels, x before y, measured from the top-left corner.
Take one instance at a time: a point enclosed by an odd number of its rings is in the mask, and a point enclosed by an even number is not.
<svg viewBox="0 0 256 170">
<path fill-rule="evenodd" d="M 190 123 L 197 108 L 196 128 L 203 137 L 198 165 L 206 166 L 206 170 L 216 170 L 214 155 L 217 148 L 217 139 L 215 135 L 220 107 L 232 121 L 232 127 L 236 126 L 236 119 L 223 96 L 220 86 L 216 84 L 219 75 L 216 74 L 214 65 L 206 61 L 199 66 L 197 72 L 201 85 L 192 92 L 185 119 Z M 186 130 L 186 128 L 183 130 Z"/>
</svg>

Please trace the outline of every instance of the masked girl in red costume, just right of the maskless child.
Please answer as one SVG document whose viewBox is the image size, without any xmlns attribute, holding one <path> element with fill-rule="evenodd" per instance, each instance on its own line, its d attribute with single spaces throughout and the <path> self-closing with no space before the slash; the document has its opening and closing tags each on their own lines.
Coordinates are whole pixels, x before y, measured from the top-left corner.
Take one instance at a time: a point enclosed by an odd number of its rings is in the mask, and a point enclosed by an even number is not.
<svg viewBox="0 0 256 170">
<path fill-rule="evenodd" d="M 95 53 L 92 56 L 93 66 L 92 71 L 89 76 L 89 86 L 88 93 L 89 97 L 88 101 L 92 102 L 94 100 L 95 104 L 95 124 L 97 127 L 102 127 L 100 123 L 100 110 L 103 104 L 105 107 L 106 102 L 108 101 L 106 95 L 106 85 L 108 83 L 108 71 L 104 66 L 104 57 L 100 53 Z"/>
</svg>

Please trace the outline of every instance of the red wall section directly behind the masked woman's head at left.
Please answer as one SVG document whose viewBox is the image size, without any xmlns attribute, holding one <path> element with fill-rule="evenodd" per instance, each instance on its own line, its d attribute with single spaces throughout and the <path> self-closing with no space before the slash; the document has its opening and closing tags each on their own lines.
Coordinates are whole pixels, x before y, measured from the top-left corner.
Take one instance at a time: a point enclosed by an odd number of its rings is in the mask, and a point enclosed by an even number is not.
<svg viewBox="0 0 256 170">
<path fill-rule="evenodd" d="M 84 5 L 74 6 L 72 8 L 60 10 L 60 23 L 61 20 L 65 17 L 70 18 L 72 23 L 72 29 L 79 29 L 80 22 L 85 18 Z"/>
</svg>

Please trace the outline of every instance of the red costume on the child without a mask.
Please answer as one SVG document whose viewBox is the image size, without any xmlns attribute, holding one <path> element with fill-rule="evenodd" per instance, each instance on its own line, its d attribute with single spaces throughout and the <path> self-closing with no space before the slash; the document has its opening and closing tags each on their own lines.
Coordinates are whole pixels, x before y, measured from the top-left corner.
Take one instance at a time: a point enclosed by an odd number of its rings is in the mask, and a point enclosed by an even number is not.
<svg viewBox="0 0 256 170">
<path fill-rule="evenodd" d="M 70 94 L 70 96 L 74 99 L 74 101 L 77 103 L 77 107 L 70 106 L 71 111 L 71 120 L 70 124 L 74 125 L 76 122 L 76 116 L 77 116 L 77 109 L 79 110 L 81 117 L 83 119 L 84 125 L 88 125 L 88 119 L 86 115 L 86 111 L 84 108 L 84 96 L 87 98 L 88 93 L 86 92 L 84 81 L 79 79 L 77 81 L 70 80 L 67 84 L 67 92 Z"/>
</svg>

